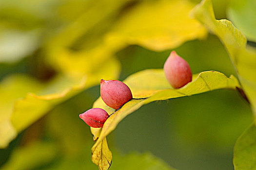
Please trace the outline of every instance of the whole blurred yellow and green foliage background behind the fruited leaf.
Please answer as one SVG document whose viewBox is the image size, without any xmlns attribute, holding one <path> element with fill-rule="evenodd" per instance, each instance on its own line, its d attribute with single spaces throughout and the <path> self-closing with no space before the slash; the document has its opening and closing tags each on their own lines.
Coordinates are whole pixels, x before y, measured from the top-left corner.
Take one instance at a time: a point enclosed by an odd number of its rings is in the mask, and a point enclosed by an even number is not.
<svg viewBox="0 0 256 170">
<path fill-rule="evenodd" d="M 172 50 L 193 73 L 237 76 L 218 38 L 188 17 L 198 2 L 0 0 L 0 169 L 97 169 L 78 115 L 98 98 L 99 80 L 162 68 Z M 213 4 L 255 44 L 255 1 Z M 147 104 L 108 136 L 110 169 L 233 169 L 235 141 L 252 120 L 229 89 Z"/>
</svg>

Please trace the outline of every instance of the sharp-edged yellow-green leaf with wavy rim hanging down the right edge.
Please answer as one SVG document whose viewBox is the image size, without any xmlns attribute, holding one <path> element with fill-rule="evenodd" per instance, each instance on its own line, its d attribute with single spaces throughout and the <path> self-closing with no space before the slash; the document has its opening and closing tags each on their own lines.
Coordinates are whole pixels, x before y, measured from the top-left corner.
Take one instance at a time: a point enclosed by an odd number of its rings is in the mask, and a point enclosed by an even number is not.
<svg viewBox="0 0 256 170">
<path fill-rule="evenodd" d="M 222 41 L 233 64 L 239 81 L 256 113 L 256 49 L 246 45 L 246 37 L 226 20 L 216 20 L 211 0 L 203 0 L 192 11 L 192 15 Z"/>
</svg>

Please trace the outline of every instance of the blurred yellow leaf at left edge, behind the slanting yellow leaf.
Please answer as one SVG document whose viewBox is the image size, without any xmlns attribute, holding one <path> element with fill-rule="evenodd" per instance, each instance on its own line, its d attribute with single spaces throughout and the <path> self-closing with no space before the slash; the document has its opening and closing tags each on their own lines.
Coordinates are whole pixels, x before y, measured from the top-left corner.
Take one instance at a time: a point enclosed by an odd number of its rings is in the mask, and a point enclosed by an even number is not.
<svg viewBox="0 0 256 170">
<path fill-rule="evenodd" d="M 23 97 L 28 91 L 38 92 L 41 88 L 39 82 L 24 75 L 13 75 L 1 81 L 0 148 L 5 148 L 17 135 L 10 121 L 15 100 Z"/>
</svg>

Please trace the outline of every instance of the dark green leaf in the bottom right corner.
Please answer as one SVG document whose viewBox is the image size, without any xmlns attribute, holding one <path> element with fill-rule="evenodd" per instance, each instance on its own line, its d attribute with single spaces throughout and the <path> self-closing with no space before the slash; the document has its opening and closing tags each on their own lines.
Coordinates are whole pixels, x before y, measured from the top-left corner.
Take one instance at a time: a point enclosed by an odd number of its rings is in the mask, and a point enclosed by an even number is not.
<svg viewBox="0 0 256 170">
<path fill-rule="evenodd" d="M 256 126 L 252 123 L 236 140 L 233 163 L 235 170 L 256 169 Z"/>
</svg>

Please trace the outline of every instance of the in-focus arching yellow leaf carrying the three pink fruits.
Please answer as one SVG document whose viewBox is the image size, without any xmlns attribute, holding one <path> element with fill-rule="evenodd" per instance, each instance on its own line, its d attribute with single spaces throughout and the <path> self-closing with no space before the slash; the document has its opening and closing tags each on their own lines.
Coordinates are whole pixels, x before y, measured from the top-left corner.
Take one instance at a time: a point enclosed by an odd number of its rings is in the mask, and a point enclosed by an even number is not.
<svg viewBox="0 0 256 170">
<path fill-rule="evenodd" d="M 106 120 L 102 129 L 91 128 L 94 140 L 98 138 L 95 145 L 92 147 L 93 155 L 96 154 L 96 148 L 98 149 L 101 141 L 115 130 L 118 123 L 144 104 L 182 96 L 191 96 L 219 88 L 236 89 L 236 87 L 240 87 L 238 81 L 232 75 L 228 78 L 217 71 L 205 71 L 193 75 L 193 81 L 182 88 L 173 89 L 167 82 L 163 69 L 147 69 L 140 71 L 129 76 L 124 83 L 130 87 L 134 98 L 143 99 L 132 99 L 125 103 L 122 108 Z M 113 108 L 107 106 L 101 98 L 98 98 L 93 107 L 103 108 L 109 114 L 115 111 Z M 105 158 L 103 157 L 103 159 Z"/>
</svg>

